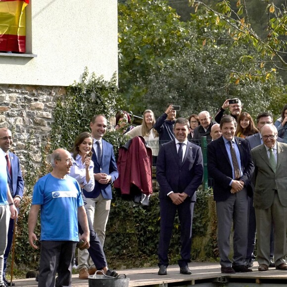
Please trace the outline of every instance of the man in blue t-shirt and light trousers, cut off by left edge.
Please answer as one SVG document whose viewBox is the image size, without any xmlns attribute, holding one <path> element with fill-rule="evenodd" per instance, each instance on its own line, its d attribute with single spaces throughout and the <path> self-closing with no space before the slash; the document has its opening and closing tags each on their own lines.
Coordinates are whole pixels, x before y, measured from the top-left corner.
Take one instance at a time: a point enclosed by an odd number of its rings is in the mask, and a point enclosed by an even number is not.
<svg viewBox="0 0 287 287">
<path fill-rule="evenodd" d="M 6 169 L 5 152 L 0 148 L 0 286 L 6 286 L 3 282 L 3 257 L 7 245 L 9 220 L 17 217 L 17 209 L 8 188 Z"/>
</svg>

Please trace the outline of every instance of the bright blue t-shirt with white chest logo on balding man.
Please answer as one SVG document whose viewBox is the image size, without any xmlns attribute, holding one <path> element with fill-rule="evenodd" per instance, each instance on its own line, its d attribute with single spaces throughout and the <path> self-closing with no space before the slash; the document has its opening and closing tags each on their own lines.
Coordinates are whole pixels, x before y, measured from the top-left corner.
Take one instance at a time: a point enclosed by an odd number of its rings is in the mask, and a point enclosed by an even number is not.
<svg viewBox="0 0 287 287">
<path fill-rule="evenodd" d="M 35 185 L 32 204 L 41 205 L 41 239 L 78 241 L 78 207 L 84 205 L 78 182 L 50 173 Z"/>
</svg>

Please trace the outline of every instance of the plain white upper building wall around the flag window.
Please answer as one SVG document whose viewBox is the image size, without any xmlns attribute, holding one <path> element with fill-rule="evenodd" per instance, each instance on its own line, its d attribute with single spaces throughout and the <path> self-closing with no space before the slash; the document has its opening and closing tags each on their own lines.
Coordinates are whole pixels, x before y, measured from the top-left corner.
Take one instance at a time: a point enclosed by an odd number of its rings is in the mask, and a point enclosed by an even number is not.
<svg viewBox="0 0 287 287">
<path fill-rule="evenodd" d="M 86 66 L 106 80 L 117 72 L 116 0 L 30 0 L 26 9 L 26 53 L 37 57 L 0 55 L 0 84 L 69 86 Z"/>
</svg>

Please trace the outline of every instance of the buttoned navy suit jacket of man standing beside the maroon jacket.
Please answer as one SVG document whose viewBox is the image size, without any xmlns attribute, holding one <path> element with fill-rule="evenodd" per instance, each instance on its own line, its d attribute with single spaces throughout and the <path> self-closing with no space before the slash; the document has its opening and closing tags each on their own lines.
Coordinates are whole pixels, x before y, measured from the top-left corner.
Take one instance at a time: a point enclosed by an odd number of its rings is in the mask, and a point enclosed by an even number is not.
<svg viewBox="0 0 287 287">
<path fill-rule="evenodd" d="M 175 140 L 162 144 L 156 162 L 156 179 L 159 198 L 166 198 L 170 191 L 185 192 L 195 201 L 195 191 L 202 183 L 203 160 L 200 147 L 188 142 L 183 162 L 180 164 Z"/>
</svg>

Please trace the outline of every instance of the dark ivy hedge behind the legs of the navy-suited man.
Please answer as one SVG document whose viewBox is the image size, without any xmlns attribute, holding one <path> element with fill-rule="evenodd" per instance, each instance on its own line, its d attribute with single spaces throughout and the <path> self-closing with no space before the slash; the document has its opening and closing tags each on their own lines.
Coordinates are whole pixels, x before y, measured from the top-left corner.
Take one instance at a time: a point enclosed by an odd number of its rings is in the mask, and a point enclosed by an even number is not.
<svg viewBox="0 0 287 287">
<path fill-rule="evenodd" d="M 202 259 L 204 242 L 209 239 L 211 191 L 197 191 L 193 212 L 192 237 L 199 244 L 192 244 L 192 260 Z M 124 200 L 114 191 L 106 228 L 105 253 L 113 268 L 140 267 L 157 264 L 157 248 L 160 231 L 158 193 L 150 196 L 149 206 Z M 216 229 L 216 227 L 215 227 Z M 208 247 L 206 247 L 208 249 Z M 180 223 L 175 218 L 173 236 L 169 248 L 171 263 L 177 263 L 180 253 Z M 203 256 L 203 257 L 202 257 Z M 212 256 L 213 257 L 213 256 Z M 114 266 L 120 258 L 119 266 Z"/>
</svg>

